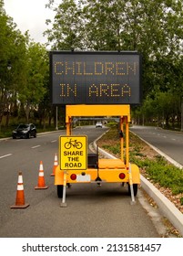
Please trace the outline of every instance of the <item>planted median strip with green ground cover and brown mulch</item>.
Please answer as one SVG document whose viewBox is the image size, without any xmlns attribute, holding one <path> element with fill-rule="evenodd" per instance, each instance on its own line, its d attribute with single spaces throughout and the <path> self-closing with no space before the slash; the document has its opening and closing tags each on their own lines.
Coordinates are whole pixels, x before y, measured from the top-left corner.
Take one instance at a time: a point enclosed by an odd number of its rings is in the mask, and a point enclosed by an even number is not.
<svg viewBox="0 0 183 256">
<path fill-rule="evenodd" d="M 140 174 L 183 213 L 183 170 L 168 163 L 135 134 L 129 134 L 129 142 L 130 162 L 136 164 Z M 105 133 L 97 144 L 111 155 L 120 157 L 119 134 L 116 127 Z"/>
</svg>

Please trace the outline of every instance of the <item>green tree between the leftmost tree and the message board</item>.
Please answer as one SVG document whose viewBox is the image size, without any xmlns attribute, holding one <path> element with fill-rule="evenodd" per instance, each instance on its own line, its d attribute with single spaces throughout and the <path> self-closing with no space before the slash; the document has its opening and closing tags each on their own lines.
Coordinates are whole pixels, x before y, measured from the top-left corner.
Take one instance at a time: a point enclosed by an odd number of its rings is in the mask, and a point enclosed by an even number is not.
<svg viewBox="0 0 183 256">
<path fill-rule="evenodd" d="M 48 56 L 46 48 L 31 42 L 26 55 L 26 80 L 17 98 L 25 106 L 26 122 L 32 109 L 36 109 L 46 94 L 46 77 L 48 75 Z"/>
</svg>

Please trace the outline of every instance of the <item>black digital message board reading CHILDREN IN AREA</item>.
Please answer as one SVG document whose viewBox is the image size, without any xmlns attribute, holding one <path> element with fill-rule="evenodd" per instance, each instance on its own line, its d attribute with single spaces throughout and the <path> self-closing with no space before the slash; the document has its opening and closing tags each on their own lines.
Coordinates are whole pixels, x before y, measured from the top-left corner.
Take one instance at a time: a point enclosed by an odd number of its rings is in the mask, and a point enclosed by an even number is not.
<svg viewBox="0 0 183 256">
<path fill-rule="evenodd" d="M 53 104 L 139 104 L 137 52 L 51 51 Z"/>
</svg>

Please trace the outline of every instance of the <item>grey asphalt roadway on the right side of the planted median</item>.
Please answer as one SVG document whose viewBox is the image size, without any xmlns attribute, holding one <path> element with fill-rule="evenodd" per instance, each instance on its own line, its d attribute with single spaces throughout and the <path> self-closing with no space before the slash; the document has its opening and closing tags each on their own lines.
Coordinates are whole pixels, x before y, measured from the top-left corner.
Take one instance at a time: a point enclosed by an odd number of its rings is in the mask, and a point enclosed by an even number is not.
<svg viewBox="0 0 183 256">
<path fill-rule="evenodd" d="M 147 141 L 147 143 L 157 147 L 180 165 L 183 165 L 183 133 L 139 125 L 132 126 L 130 130 Z"/>
</svg>

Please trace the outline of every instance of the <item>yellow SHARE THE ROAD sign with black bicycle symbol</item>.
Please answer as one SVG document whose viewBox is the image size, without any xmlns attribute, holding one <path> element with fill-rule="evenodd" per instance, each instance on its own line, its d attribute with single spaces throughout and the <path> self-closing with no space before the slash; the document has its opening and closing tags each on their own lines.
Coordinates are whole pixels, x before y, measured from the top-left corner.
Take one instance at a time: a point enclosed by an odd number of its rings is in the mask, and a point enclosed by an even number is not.
<svg viewBox="0 0 183 256">
<path fill-rule="evenodd" d="M 82 136 L 60 136 L 60 169 L 86 170 L 87 168 L 87 138 Z"/>
</svg>

